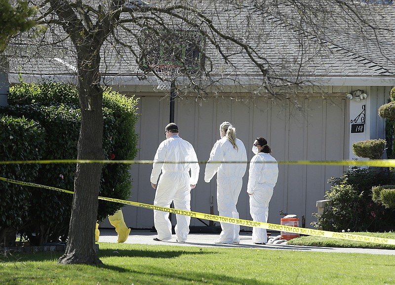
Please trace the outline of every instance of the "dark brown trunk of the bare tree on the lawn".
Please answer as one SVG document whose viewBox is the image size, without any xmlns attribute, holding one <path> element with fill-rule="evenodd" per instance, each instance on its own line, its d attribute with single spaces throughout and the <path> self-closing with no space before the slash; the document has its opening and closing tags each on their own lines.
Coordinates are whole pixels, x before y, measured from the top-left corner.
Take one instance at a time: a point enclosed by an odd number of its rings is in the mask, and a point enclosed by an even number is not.
<svg viewBox="0 0 395 285">
<path fill-rule="evenodd" d="M 103 160 L 103 89 L 100 86 L 99 52 L 80 46 L 79 102 L 81 129 L 78 141 L 79 160 Z M 81 74 L 84 76 L 81 76 Z M 58 262 L 63 264 L 100 264 L 95 245 L 98 195 L 102 164 L 78 163 L 74 180 L 74 198 L 66 251 Z M 89 229 L 89 230 L 86 230 Z"/>
</svg>

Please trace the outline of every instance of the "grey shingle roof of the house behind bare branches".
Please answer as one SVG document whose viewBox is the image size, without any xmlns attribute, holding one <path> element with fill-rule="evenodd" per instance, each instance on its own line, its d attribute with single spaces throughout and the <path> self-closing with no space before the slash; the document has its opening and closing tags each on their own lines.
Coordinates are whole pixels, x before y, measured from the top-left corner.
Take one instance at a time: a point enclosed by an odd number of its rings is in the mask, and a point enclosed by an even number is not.
<svg viewBox="0 0 395 285">
<path fill-rule="evenodd" d="M 392 6 L 386 7 L 383 10 L 383 15 L 380 16 L 381 21 L 374 21 L 372 16 L 372 23 L 376 22 L 389 30 L 395 30 L 394 10 Z M 291 12 L 289 12 L 292 15 L 290 21 L 293 17 Z M 245 24 L 247 19 L 256 22 L 254 24 L 249 22 L 247 25 Z M 339 32 L 339 29 L 326 30 L 322 33 L 322 37 L 319 34 L 309 34 L 308 31 L 304 31 L 303 37 L 300 37 L 301 32 L 291 24 L 276 19 L 248 18 L 239 11 L 227 11 L 226 13 L 222 11 L 213 17 L 213 21 L 219 30 L 230 35 L 235 34 L 237 38 L 254 46 L 259 55 L 269 63 L 269 74 L 274 77 L 287 77 L 295 74 L 316 77 L 395 76 L 395 50 L 393 48 L 395 37 L 394 33 L 390 31 L 379 32 L 377 35 L 372 34 L 368 37 L 357 35 L 347 29 L 344 29 L 343 32 Z M 118 33 L 124 39 L 133 40 L 133 37 L 125 35 L 124 31 L 118 30 Z M 139 47 L 136 43 L 133 41 L 129 43 L 134 44 L 135 51 L 138 53 Z M 233 55 L 226 63 L 214 46 L 207 41 L 206 54 L 212 63 L 212 75 L 260 75 L 259 69 L 252 64 L 245 53 L 242 53 L 239 46 L 229 41 L 221 41 L 220 45 L 228 54 Z M 11 44 L 7 54 L 12 55 L 15 50 L 19 50 L 19 52 L 23 50 L 23 46 L 19 46 L 17 49 L 15 46 L 15 44 Z M 17 57 L 9 57 L 9 72 L 73 75 L 75 74 L 76 56 L 70 50 L 70 48 L 64 48 L 62 52 L 56 50 L 48 52 L 47 48 L 45 52 L 40 52 L 40 48 L 38 48 L 38 53 L 34 55 L 20 52 Z M 106 42 L 101 53 L 101 72 L 103 74 L 142 75 L 134 55 L 126 48 L 116 47 L 113 42 Z M 264 60 L 262 62 L 265 63 Z M 20 67 L 21 70 L 19 70 Z"/>
</svg>

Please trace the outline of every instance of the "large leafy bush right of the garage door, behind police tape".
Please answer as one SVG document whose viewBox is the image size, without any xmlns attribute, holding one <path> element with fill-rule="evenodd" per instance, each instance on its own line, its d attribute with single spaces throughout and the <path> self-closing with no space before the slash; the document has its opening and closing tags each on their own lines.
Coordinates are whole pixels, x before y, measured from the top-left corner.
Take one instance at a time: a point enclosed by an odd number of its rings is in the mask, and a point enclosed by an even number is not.
<svg viewBox="0 0 395 285">
<path fill-rule="evenodd" d="M 322 215 L 313 214 L 312 224 L 326 231 L 385 231 L 395 223 L 395 212 L 372 200 L 371 189 L 377 184 L 395 182 L 394 172 L 388 168 L 353 167 L 340 178 L 331 178 L 330 191 L 325 199 L 331 205 Z"/>
</svg>

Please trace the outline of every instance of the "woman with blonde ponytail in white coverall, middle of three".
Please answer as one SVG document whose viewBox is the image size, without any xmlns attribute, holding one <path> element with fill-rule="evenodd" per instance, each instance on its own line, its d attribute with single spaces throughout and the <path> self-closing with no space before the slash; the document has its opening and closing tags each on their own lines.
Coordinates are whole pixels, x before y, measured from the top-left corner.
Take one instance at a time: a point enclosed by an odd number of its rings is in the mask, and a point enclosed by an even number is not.
<svg viewBox="0 0 395 285">
<path fill-rule="evenodd" d="M 221 139 L 214 144 L 210 152 L 210 158 L 204 171 L 204 181 L 210 182 L 215 173 L 217 173 L 217 206 L 219 215 L 238 219 L 236 204 L 243 184 L 242 178 L 247 168 L 247 153 L 243 142 L 236 138 L 236 128 L 230 122 L 223 122 L 219 131 Z M 240 243 L 240 226 L 221 223 L 221 228 L 219 239 L 214 243 Z"/>
</svg>

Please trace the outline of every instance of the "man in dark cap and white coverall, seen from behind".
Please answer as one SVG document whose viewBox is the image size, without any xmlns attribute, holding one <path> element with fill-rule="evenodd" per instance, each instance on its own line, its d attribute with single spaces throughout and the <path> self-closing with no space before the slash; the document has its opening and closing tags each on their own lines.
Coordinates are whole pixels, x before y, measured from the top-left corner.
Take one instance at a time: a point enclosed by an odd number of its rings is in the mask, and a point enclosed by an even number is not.
<svg viewBox="0 0 395 285">
<path fill-rule="evenodd" d="M 197 184 L 200 168 L 193 146 L 180 138 L 178 133 L 178 126 L 175 123 L 169 123 L 166 126 L 166 140 L 160 143 L 154 158 L 151 186 L 156 189 L 154 205 L 170 207 L 173 202 L 174 208 L 190 211 L 191 189 L 194 189 Z M 160 172 L 162 175 L 158 181 Z M 191 217 L 176 214 L 176 219 L 177 242 L 185 243 L 189 234 Z M 154 210 L 154 224 L 158 232 L 155 241 L 171 239 L 171 222 L 168 212 Z"/>
</svg>

